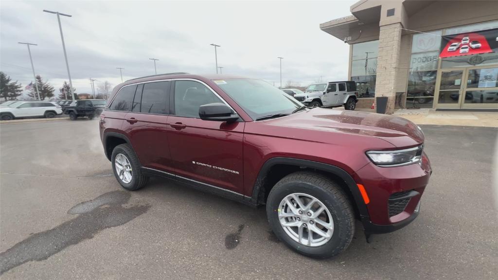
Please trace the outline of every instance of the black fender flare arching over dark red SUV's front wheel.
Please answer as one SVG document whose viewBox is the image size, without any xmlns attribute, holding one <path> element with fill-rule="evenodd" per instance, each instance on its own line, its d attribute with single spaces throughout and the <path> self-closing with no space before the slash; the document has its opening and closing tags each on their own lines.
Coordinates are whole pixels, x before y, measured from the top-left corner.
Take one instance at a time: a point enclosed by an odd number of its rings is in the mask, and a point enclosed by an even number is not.
<svg viewBox="0 0 498 280">
<path fill-rule="evenodd" d="M 257 175 L 256 181 L 254 183 L 254 186 L 252 188 L 252 196 L 249 198 L 252 203 L 257 203 L 258 202 L 258 197 L 260 195 L 260 190 L 262 188 L 262 182 L 264 181 L 264 178 L 266 177 L 266 174 L 268 174 L 270 168 L 276 164 L 286 164 L 286 165 L 294 165 L 294 166 L 299 166 L 299 167 L 307 167 L 315 170 L 320 170 L 320 171 L 325 171 L 328 173 L 332 173 L 339 178 L 343 179 L 346 185 L 348 186 L 348 189 L 350 190 L 351 194 L 353 194 L 353 199 L 355 200 L 355 204 L 357 206 L 358 212 L 360 213 L 361 218 L 367 218 L 369 217 L 369 212 L 367 209 L 367 206 L 365 205 L 365 202 L 363 200 L 362 194 L 360 193 L 360 190 L 358 189 L 358 186 L 353 179 L 353 177 L 346 172 L 346 170 L 337 167 L 335 165 L 327 164 L 327 163 L 322 163 L 322 162 L 317 162 L 317 161 L 311 161 L 311 160 L 305 160 L 305 159 L 298 159 L 298 158 L 290 158 L 290 157 L 273 157 L 268 159 L 261 169 L 259 170 L 259 174 Z"/>
</svg>

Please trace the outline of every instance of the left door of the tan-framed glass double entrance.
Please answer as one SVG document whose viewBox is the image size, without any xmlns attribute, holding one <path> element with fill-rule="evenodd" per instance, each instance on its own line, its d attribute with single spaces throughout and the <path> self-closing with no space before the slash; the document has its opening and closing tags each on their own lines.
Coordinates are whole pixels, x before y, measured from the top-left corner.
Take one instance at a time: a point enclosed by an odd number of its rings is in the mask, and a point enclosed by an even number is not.
<svg viewBox="0 0 498 280">
<path fill-rule="evenodd" d="M 436 108 L 460 108 L 464 70 L 441 71 Z"/>
</svg>

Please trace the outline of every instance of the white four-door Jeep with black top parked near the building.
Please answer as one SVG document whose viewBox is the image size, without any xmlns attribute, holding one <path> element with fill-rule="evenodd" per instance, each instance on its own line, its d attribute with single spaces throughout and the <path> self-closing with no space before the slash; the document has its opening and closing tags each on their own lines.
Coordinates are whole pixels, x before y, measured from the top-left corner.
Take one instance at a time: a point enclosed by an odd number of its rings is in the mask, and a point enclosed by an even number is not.
<svg viewBox="0 0 498 280">
<path fill-rule="evenodd" d="M 358 92 L 354 81 L 316 83 L 294 98 L 309 107 L 340 107 L 355 110 Z"/>
</svg>

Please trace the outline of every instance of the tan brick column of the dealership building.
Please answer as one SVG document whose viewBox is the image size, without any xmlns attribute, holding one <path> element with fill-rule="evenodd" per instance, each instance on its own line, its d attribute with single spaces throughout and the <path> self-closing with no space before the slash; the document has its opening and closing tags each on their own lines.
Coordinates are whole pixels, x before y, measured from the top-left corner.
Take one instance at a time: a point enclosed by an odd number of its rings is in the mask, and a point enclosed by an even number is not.
<svg viewBox="0 0 498 280">
<path fill-rule="evenodd" d="M 398 72 L 395 67 L 399 62 L 401 27 L 400 22 L 380 26 L 375 97 L 388 98 L 386 114 L 394 112 Z"/>
</svg>

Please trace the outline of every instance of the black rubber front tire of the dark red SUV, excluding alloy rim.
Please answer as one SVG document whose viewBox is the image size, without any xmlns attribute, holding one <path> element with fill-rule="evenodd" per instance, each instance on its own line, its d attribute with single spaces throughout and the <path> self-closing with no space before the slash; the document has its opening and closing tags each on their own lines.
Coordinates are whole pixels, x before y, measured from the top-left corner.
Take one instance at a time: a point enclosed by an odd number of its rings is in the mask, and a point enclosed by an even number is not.
<svg viewBox="0 0 498 280">
<path fill-rule="evenodd" d="M 327 243 L 308 247 L 294 241 L 285 233 L 278 218 L 278 207 L 280 201 L 292 193 L 314 196 L 328 208 L 334 222 L 334 231 Z M 266 215 L 278 239 L 299 254 L 315 259 L 326 259 L 340 254 L 348 248 L 355 234 L 354 211 L 347 195 L 336 182 L 313 172 L 291 173 L 276 183 L 266 200 Z"/>
</svg>

